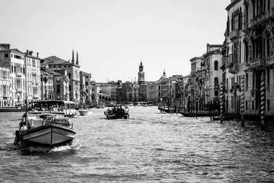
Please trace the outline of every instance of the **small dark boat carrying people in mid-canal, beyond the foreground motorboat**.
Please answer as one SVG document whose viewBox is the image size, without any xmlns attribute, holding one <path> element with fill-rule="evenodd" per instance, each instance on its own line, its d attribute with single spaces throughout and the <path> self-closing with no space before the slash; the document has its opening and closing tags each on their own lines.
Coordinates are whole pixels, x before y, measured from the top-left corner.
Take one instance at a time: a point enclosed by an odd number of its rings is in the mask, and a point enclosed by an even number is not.
<svg viewBox="0 0 274 183">
<path fill-rule="evenodd" d="M 105 112 L 107 119 L 127 119 L 129 118 L 129 108 L 122 106 L 115 106 L 114 108 L 108 108 Z"/>
</svg>

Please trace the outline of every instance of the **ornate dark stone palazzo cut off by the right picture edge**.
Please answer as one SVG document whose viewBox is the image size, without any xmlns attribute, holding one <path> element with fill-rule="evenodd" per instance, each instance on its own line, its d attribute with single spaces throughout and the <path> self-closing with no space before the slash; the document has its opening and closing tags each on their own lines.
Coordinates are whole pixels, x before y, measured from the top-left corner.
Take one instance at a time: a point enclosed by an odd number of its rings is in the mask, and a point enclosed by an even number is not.
<svg viewBox="0 0 274 183">
<path fill-rule="evenodd" d="M 265 78 L 265 114 L 274 115 L 274 1 L 240 1 L 245 63 L 245 114 L 260 114 L 261 77 Z"/>
</svg>

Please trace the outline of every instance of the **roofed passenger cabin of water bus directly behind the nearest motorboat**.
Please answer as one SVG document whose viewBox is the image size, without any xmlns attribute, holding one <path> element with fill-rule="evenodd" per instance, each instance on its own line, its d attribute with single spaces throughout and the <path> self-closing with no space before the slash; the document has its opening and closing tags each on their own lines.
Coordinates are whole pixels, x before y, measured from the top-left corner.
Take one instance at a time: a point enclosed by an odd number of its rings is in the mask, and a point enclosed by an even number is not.
<svg viewBox="0 0 274 183">
<path fill-rule="evenodd" d="M 73 101 L 32 101 L 29 110 L 75 109 Z"/>
</svg>

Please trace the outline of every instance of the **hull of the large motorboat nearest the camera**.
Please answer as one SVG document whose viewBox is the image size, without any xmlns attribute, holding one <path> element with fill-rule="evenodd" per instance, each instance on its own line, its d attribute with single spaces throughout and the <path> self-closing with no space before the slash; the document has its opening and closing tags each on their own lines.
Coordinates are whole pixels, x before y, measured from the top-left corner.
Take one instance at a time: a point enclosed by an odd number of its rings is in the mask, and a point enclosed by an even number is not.
<svg viewBox="0 0 274 183">
<path fill-rule="evenodd" d="M 60 125 L 42 125 L 21 131 L 22 147 L 71 145 L 75 132 Z"/>
</svg>

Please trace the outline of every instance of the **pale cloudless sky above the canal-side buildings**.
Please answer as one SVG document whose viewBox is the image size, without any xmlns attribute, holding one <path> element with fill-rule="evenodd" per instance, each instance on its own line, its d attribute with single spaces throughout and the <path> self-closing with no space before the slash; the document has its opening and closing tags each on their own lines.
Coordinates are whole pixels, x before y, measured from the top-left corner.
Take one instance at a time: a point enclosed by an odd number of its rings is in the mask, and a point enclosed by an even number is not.
<svg viewBox="0 0 274 183">
<path fill-rule="evenodd" d="M 0 0 L 0 42 L 71 60 L 97 82 L 188 75 L 206 43 L 223 44 L 230 0 Z"/>
</svg>

